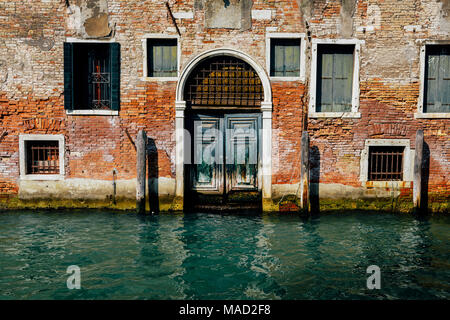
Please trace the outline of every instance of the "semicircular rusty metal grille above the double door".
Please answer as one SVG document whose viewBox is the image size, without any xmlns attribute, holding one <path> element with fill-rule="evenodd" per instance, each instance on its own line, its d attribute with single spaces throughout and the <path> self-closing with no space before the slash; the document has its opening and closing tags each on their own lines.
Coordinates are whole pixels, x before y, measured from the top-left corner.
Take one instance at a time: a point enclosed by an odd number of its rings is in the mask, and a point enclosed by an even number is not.
<svg viewBox="0 0 450 320">
<path fill-rule="evenodd" d="M 260 107 L 263 87 L 246 62 L 231 56 L 212 57 L 192 71 L 185 88 L 192 107 Z"/>
</svg>

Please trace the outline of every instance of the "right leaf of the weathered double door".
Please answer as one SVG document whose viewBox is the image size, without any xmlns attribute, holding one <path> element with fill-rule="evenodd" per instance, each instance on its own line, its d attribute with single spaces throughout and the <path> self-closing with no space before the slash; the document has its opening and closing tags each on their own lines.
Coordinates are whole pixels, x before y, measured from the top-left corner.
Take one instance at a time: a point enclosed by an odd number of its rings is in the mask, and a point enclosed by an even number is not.
<svg viewBox="0 0 450 320">
<path fill-rule="evenodd" d="M 225 115 L 226 191 L 258 190 L 260 115 Z"/>
</svg>

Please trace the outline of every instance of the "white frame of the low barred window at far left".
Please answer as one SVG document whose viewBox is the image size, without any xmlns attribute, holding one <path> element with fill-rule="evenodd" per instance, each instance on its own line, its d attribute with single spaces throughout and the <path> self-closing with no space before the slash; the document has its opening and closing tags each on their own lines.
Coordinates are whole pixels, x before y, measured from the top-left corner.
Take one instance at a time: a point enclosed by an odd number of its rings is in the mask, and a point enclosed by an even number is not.
<svg viewBox="0 0 450 320">
<path fill-rule="evenodd" d="M 59 174 L 27 174 L 25 148 L 26 141 L 58 141 L 59 151 Z M 63 134 L 21 134 L 19 135 L 19 171 L 21 180 L 63 180 L 64 168 L 64 135 Z"/>
</svg>

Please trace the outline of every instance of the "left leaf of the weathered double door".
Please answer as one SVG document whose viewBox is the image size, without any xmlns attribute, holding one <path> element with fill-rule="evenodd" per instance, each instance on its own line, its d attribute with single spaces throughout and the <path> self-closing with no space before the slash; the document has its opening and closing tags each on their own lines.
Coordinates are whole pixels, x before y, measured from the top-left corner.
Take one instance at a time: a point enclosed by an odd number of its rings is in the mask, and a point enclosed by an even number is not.
<svg viewBox="0 0 450 320">
<path fill-rule="evenodd" d="M 192 190 L 223 193 L 223 119 L 196 115 L 193 120 Z"/>
</svg>

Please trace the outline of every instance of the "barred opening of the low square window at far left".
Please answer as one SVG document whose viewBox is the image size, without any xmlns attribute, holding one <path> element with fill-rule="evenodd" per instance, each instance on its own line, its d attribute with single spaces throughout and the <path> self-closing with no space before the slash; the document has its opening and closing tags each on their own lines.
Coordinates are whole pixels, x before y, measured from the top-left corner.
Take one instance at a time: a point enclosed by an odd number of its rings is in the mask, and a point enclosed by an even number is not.
<svg viewBox="0 0 450 320">
<path fill-rule="evenodd" d="M 27 142 L 27 174 L 59 174 L 58 141 Z"/>
</svg>

